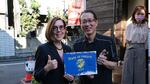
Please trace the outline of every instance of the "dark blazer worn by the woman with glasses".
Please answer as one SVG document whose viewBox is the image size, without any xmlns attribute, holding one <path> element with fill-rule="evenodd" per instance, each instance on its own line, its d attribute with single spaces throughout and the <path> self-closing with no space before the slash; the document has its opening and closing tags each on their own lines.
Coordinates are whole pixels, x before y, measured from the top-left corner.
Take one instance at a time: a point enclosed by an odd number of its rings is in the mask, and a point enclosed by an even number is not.
<svg viewBox="0 0 150 84">
<path fill-rule="evenodd" d="M 63 43 L 62 43 L 63 44 Z M 63 51 L 70 52 L 71 48 L 63 44 Z M 51 59 L 56 59 L 58 62 L 58 68 L 45 73 L 44 66 L 47 64 L 48 55 Z M 36 54 L 35 72 L 34 77 L 41 84 L 68 84 L 64 76 L 64 64 L 60 58 L 56 47 L 53 42 L 47 42 L 38 47 Z"/>
</svg>

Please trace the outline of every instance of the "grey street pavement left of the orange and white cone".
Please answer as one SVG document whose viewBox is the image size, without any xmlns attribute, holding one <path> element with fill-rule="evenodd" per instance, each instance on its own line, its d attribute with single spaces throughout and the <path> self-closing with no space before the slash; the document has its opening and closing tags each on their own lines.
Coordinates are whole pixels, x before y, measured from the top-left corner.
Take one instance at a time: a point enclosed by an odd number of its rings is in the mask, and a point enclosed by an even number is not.
<svg viewBox="0 0 150 84">
<path fill-rule="evenodd" d="M 0 62 L 0 84 L 21 84 L 25 75 L 25 61 Z"/>
</svg>

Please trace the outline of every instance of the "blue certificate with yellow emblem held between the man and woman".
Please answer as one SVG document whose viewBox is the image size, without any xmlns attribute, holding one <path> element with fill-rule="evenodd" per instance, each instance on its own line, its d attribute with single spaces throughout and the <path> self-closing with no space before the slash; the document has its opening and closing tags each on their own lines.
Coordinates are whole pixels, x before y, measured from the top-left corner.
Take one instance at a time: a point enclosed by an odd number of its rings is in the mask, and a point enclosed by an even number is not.
<svg viewBox="0 0 150 84">
<path fill-rule="evenodd" d="M 65 74 L 97 74 L 96 51 L 64 53 Z"/>
</svg>

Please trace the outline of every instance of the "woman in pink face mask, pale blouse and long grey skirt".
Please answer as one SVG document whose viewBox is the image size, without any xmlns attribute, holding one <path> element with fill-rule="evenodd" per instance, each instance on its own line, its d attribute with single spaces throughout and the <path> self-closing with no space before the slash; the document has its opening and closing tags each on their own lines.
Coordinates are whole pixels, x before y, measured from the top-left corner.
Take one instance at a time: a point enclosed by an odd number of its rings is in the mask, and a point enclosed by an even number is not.
<svg viewBox="0 0 150 84">
<path fill-rule="evenodd" d="M 148 24 L 144 6 L 136 6 L 132 23 L 126 29 L 126 52 L 123 65 L 122 84 L 145 84 Z"/>
</svg>

